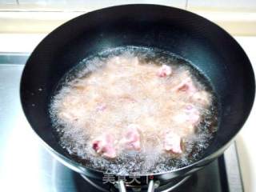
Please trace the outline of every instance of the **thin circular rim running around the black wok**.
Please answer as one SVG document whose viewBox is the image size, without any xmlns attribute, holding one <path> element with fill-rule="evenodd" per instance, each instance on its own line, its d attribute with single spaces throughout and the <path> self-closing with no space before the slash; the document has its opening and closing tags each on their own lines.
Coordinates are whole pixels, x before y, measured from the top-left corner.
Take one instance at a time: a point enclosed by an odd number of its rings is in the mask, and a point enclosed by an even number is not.
<svg viewBox="0 0 256 192">
<path fill-rule="evenodd" d="M 82 14 L 82 15 L 79 15 L 78 17 L 75 17 L 75 18 L 72 18 L 70 19 L 69 21 L 63 23 L 62 25 L 58 26 L 57 28 L 55 28 L 54 30 L 52 30 L 49 34 L 46 35 L 45 38 L 42 39 L 41 42 L 39 42 L 38 46 L 36 46 L 34 48 L 34 50 L 32 51 L 32 53 L 30 54 L 30 58 L 32 55 L 34 54 L 37 54 L 37 49 L 39 46 L 41 46 L 42 42 L 45 41 L 46 38 L 48 38 L 49 36 L 51 36 L 52 34 L 54 33 L 57 33 L 59 30 L 62 30 L 62 27 L 63 26 L 66 26 L 67 24 L 70 24 L 72 22 L 76 22 L 77 19 L 79 18 L 84 18 L 84 17 L 87 17 L 88 15 L 90 14 L 95 14 L 95 13 L 100 13 L 104 10 L 112 10 L 112 9 L 118 9 L 119 7 L 132 7 L 132 6 L 154 6 L 154 8 L 158 7 L 158 8 L 164 8 L 164 9 L 169 9 L 170 12 L 172 10 L 178 10 L 179 12 L 183 12 L 183 13 L 186 13 L 186 14 L 191 14 L 193 15 L 194 17 L 197 17 L 197 18 L 201 18 L 203 20 L 205 20 L 206 22 L 209 22 L 211 25 L 215 26 L 218 28 L 218 30 L 221 30 L 222 32 L 224 32 L 226 35 L 229 36 L 230 40 L 233 41 L 236 46 L 239 48 L 239 50 L 241 51 L 241 54 L 243 54 L 243 57 L 246 58 L 246 60 L 249 62 L 248 64 L 248 67 L 250 68 L 250 73 L 251 73 L 251 76 L 253 78 L 253 84 L 254 84 L 254 87 L 253 87 L 253 93 L 254 95 L 252 96 L 252 100 L 251 100 L 251 103 L 250 103 L 250 109 L 246 111 L 246 115 L 245 117 L 243 118 L 243 122 L 242 122 L 242 125 L 240 126 L 240 128 L 238 129 L 237 133 L 234 134 L 234 136 L 232 138 L 230 138 L 230 140 L 228 142 L 225 142 L 224 145 L 222 145 L 221 147 L 219 147 L 218 149 L 214 150 L 214 153 L 206 156 L 205 158 L 199 158 L 197 161 L 187 165 L 187 166 L 182 166 L 181 168 L 178 168 L 178 169 L 174 169 L 174 170 L 169 170 L 169 171 L 162 171 L 162 172 L 159 172 L 159 173 L 152 173 L 152 174 L 138 174 L 138 176 L 140 177 L 148 177 L 148 176 L 159 176 L 159 175 L 163 175 L 163 174 L 174 174 L 174 173 L 178 173 L 178 172 L 181 172 L 181 171 L 184 171 L 184 174 L 182 175 L 186 175 L 190 172 L 190 170 L 193 170 L 193 168 L 201 168 L 203 167 L 204 165 L 214 161 L 215 158 L 218 158 L 223 152 L 224 150 L 226 150 L 226 148 L 228 146 L 230 146 L 230 143 L 234 140 L 234 138 L 236 137 L 236 135 L 239 133 L 239 131 L 242 129 L 242 126 L 244 126 L 246 120 L 248 119 L 249 115 L 250 115 L 250 111 L 252 110 L 252 107 L 254 106 L 254 98 L 255 98 L 255 76 L 254 76 L 254 70 L 253 70 L 253 67 L 251 65 L 251 62 L 250 62 L 250 59 L 248 58 L 248 56 L 246 55 L 246 52 L 242 49 L 242 46 L 239 45 L 239 43 L 224 29 L 222 29 L 221 26 L 218 26 L 218 24 L 214 23 L 214 22 L 211 22 L 210 20 L 208 20 L 207 18 L 203 18 L 202 16 L 198 15 L 198 14 L 194 14 L 193 12 L 190 12 L 189 10 L 183 10 L 183 9 L 180 9 L 180 8 L 177 8 L 177 7 L 173 7 L 173 6 L 162 6 L 162 5 L 157 5 L 157 4 L 142 4 L 142 3 L 138 3 L 138 4 L 123 4 L 123 5 L 119 5 L 119 6 L 109 6 L 109 7 L 106 7 L 106 8 L 102 8 L 102 9 L 98 9 L 98 10 L 93 10 L 93 11 L 90 11 L 90 12 L 87 12 L 86 14 Z M 27 113 L 26 113 L 26 104 L 25 102 L 23 101 L 22 99 L 22 85 L 24 84 L 23 81 L 24 81 L 24 78 L 26 76 L 26 70 L 28 67 L 27 64 L 30 63 L 30 58 L 28 59 L 28 61 L 26 62 L 26 66 L 24 67 L 24 70 L 22 71 L 22 78 L 21 78 L 21 82 L 20 82 L 20 101 L 22 103 L 22 110 L 23 110 L 23 113 L 25 114 L 26 116 L 26 120 L 30 123 L 30 119 L 27 117 Z M 32 123 L 30 123 L 30 127 L 32 128 L 32 130 L 34 131 L 34 134 L 37 135 L 37 137 L 41 140 L 43 146 L 45 146 L 46 150 L 48 150 L 50 152 L 50 154 L 53 154 L 54 155 L 54 158 L 58 159 L 59 162 L 62 162 L 62 160 L 64 160 L 64 162 L 68 163 L 69 164 L 69 168 L 78 172 L 79 174 L 86 174 L 85 170 L 90 170 L 92 171 L 92 173 L 98 173 L 98 174 L 106 174 L 106 171 L 104 170 L 97 170 L 97 169 L 94 169 L 90 166 L 84 166 L 82 165 L 82 163 L 79 163 L 79 162 L 76 162 L 74 159 L 72 158 L 69 158 L 67 156 L 65 156 L 64 154 L 61 154 L 59 153 L 57 150 L 54 150 L 53 147 L 51 147 L 46 141 L 44 138 L 42 138 L 38 133 L 37 131 L 34 129 L 34 127 L 31 125 Z M 217 130 L 218 131 L 218 130 Z M 60 159 L 61 160 L 60 160 Z M 63 162 L 62 162 L 63 163 Z M 66 163 L 63 163 L 66 165 Z M 75 168 L 75 169 L 74 169 Z M 196 171 L 196 170 L 195 170 Z M 194 171 L 193 171 L 194 172 Z M 113 175 L 122 175 L 122 174 L 113 174 Z M 137 175 L 137 174 L 136 174 Z M 134 176 L 134 174 L 125 174 L 124 176 Z M 177 178 L 177 177 L 180 177 L 179 174 L 177 174 L 176 176 L 174 176 L 173 178 Z"/>
</svg>

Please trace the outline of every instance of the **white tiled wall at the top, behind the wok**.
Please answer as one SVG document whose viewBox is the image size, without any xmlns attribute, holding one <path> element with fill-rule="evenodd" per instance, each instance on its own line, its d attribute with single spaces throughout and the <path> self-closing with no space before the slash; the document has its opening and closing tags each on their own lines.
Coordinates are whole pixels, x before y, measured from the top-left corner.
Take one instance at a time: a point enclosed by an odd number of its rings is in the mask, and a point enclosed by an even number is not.
<svg viewBox="0 0 256 192">
<path fill-rule="evenodd" d="M 166 6 L 177 6 L 188 9 L 201 10 L 249 10 L 256 12 L 256 0 L 0 0 L 0 8 L 16 5 L 14 8 L 26 9 L 70 9 L 82 10 L 98 9 L 106 6 L 115 6 L 132 3 L 150 3 Z"/>
</svg>

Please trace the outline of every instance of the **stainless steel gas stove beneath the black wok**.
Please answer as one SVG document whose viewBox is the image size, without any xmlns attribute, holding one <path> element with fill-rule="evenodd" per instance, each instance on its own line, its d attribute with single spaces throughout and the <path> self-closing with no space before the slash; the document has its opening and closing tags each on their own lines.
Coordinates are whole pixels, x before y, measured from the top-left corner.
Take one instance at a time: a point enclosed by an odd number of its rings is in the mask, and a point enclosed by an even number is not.
<svg viewBox="0 0 256 192">
<path fill-rule="evenodd" d="M 29 54 L 0 54 L 0 184 L 1 191 L 118 191 L 111 183 L 75 173 L 42 146 L 22 112 L 19 82 Z M 131 191 L 142 191 L 136 188 Z M 235 142 L 204 169 L 156 191 L 242 192 Z"/>
</svg>

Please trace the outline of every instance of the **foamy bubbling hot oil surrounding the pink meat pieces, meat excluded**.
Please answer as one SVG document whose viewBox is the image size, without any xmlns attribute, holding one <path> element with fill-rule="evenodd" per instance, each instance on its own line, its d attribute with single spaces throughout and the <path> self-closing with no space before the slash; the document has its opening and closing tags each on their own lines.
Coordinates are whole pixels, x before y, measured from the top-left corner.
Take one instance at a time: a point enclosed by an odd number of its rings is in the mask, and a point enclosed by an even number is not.
<svg viewBox="0 0 256 192">
<path fill-rule="evenodd" d="M 210 106 L 200 109 L 201 122 L 195 133 L 183 137 L 185 150 L 180 155 L 162 150 L 163 138 L 159 134 L 171 129 L 172 122 L 166 118 L 181 110 L 180 106 L 172 105 L 168 111 L 162 111 L 162 106 L 171 99 L 187 101 L 168 95 L 163 80 L 153 80 L 155 72 L 149 71 L 162 65 L 173 69 L 173 77 L 165 80 L 170 85 L 178 81 L 178 74 L 189 72 L 198 89 L 211 96 Z M 142 75 L 144 71 L 148 73 Z M 110 109 L 102 111 L 102 103 L 107 103 Z M 63 111 L 68 111 L 66 118 L 60 118 Z M 155 114 L 161 118 L 154 118 Z M 58 141 L 71 158 L 113 174 L 161 173 L 187 166 L 210 146 L 218 124 L 217 98 L 210 82 L 189 61 L 163 50 L 135 46 L 105 50 L 82 60 L 59 82 L 50 115 Z M 117 158 L 106 159 L 92 150 L 91 138 L 109 133 L 121 139 L 125 127 L 134 123 L 143 126 L 143 138 L 150 141 L 142 141 L 140 151 L 123 150 Z"/>
</svg>

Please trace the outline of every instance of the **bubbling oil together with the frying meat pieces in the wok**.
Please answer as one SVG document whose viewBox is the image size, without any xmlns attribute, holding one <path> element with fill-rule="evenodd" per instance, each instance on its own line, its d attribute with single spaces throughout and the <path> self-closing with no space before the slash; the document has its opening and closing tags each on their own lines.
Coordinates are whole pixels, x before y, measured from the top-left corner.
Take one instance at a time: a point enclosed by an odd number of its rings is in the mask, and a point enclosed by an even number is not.
<svg viewBox="0 0 256 192">
<path fill-rule="evenodd" d="M 164 67 L 171 72 L 162 77 Z M 190 62 L 126 46 L 69 71 L 50 115 L 59 144 L 82 165 L 112 174 L 160 173 L 198 160 L 218 126 L 216 103 Z"/>
</svg>

